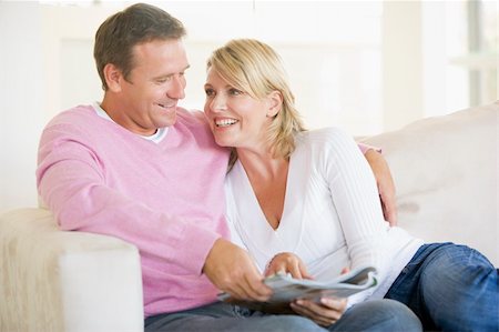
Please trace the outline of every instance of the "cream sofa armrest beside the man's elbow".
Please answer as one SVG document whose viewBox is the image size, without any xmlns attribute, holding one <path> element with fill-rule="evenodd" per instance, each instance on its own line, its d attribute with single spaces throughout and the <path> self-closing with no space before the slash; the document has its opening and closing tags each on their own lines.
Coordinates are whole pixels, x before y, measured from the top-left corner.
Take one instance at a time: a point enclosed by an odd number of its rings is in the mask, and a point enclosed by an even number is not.
<svg viewBox="0 0 499 332">
<path fill-rule="evenodd" d="M 134 245 L 19 209 L 0 215 L 0 331 L 143 331 Z"/>
</svg>

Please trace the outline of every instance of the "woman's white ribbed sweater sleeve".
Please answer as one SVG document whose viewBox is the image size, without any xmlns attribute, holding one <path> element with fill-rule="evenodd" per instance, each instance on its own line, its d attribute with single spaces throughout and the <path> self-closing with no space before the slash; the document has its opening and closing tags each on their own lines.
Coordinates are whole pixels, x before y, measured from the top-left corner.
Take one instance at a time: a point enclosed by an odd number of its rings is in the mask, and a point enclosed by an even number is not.
<svg viewBox="0 0 499 332">
<path fill-rule="evenodd" d="M 353 138 L 328 131 L 324 172 L 344 232 L 352 269 L 386 269 L 387 224 L 383 218 L 376 181 Z"/>
</svg>

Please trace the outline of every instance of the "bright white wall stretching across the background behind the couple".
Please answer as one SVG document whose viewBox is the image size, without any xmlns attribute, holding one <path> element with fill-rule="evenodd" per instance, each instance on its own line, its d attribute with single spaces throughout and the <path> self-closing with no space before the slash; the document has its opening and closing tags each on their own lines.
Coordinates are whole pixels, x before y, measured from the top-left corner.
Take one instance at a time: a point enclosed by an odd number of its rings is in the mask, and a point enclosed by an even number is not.
<svg viewBox="0 0 499 332">
<path fill-rule="evenodd" d="M 37 205 L 38 139 L 49 119 L 102 98 L 93 36 L 108 16 L 129 3 L 99 2 L 0 2 L 0 212 Z M 157 2 L 189 31 L 192 68 L 183 105 L 202 108 L 211 50 L 230 38 L 258 38 L 283 56 L 309 128 L 340 125 L 357 135 L 468 105 L 466 87 L 452 85 L 464 82 L 466 71 L 448 62 L 449 43 L 459 44 L 462 34 L 454 28 L 464 26 L 447 17 L 448 7 L 459 3 Z"/>
</svg>

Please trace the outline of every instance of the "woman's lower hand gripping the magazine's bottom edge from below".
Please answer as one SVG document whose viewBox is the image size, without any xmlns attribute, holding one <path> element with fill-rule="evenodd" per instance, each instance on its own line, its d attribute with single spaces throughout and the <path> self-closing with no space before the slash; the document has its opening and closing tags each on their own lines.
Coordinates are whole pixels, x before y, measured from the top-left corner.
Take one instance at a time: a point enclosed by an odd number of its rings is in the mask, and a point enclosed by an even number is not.
<svg viewBox="0 0 499 332">
<path fill-rule="evenodd" d="M 319 303 L 297 300 L 291 303 L 291 308 L 297 314 L 306 316 L 322 326 L 329 326 L 342 318 L 346 303 L 346 299 L 323 298 Z"/>
</svg>

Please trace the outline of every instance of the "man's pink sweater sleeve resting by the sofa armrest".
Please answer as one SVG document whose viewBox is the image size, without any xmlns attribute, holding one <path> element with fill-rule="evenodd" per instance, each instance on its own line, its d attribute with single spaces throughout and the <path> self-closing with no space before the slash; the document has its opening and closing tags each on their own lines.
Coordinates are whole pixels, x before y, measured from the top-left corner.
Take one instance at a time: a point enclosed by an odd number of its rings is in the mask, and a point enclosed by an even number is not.
<svg viewBox="0 0 499 332">
<path fill-rule="evenodd" d="M 214 228 L 126 197 L 106 184 L 105 171 L 84 140 L 57 130 L 43 133 L 37 184 L 62 230 L 116 237 L 135 244 L 143 259 L 164 260 L 172 271 L 201 274 L 208 251 L 221 237 Z"/>
</svg>

